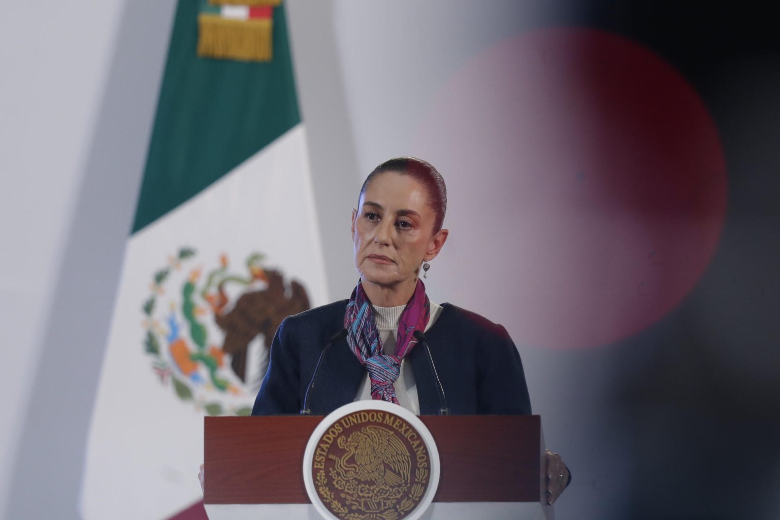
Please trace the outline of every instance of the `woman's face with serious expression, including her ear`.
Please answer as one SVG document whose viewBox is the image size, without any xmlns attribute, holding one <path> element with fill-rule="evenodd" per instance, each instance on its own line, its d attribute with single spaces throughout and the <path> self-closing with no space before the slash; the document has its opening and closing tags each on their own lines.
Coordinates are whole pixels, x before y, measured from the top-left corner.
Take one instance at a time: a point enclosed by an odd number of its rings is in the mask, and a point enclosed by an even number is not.
<svg viewBox="0 0 780 520">
<path fill-rule="evenodd" d="M 436 214 L 424 186 L 410 175 L 385 172 L 371 180 L 359 202 L 352 238 L 360 278 L 382 287 L 413 287 L 420 264 L 438 254 L 448 234 L 434 234 Z"/>
</svg>

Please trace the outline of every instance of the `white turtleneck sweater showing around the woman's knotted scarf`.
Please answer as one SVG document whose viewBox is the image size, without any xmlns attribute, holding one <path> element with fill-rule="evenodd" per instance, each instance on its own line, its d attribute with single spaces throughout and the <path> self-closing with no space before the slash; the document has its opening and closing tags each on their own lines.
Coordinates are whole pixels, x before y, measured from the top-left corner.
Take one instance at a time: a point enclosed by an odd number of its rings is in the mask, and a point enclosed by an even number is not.
<svg viewBox="0 0 780 520">
<path fill-rule="evenodd" d="M 372 305 L 374 310 L 374 324 L 377 326 L 379 338 L 382 342 L 382 349 L 388 356 L 395 354 L 395 337 L 398 334 L 398 322 L 401 320 L 401 313 L 405 305 L 397 307 L 378 307 Z M 442 307 L 431 302 L 431 317 L 428 318 L 428 324 L 425 331 L 435 323 Z M 421 345 L 415 348 L 423 348 Z M 412 412 L 414 415 L 420 415 L 420 400 L 417 398 L 417 384 L 414 381 L 414 371 L 412 363 L 408 356 L 401 360 L 401 374 L 395 381 L 395 397 L 398 398 L 399 405 Z M 355 401 L 371 399 L 371 380 L 368 379 L 368 372 L 363 373 L 363 380 L 360 382 Z"/>
</svg>

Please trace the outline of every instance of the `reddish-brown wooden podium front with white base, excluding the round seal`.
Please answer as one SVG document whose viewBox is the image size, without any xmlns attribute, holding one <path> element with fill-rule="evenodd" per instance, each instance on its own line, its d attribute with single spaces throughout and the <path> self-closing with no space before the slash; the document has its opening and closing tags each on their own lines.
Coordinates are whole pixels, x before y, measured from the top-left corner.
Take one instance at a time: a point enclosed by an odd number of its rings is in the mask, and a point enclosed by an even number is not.
<svg viewBox="0 0 780 520">
<path fill-rule="evenodd" d="M 321 416 L 206 417 L 210 520 L 321 518 L 303 483 L 303 451 Z M 441 478 L 422 518 L 551 520 L 539 416 L 420 416 Z"/>
</svg>

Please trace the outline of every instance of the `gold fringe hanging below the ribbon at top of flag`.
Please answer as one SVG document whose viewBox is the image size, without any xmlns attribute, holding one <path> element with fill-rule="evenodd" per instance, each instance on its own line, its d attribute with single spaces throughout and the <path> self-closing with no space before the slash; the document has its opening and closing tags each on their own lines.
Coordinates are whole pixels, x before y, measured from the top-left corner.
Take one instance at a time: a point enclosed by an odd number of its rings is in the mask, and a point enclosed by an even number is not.
<svg viewBox="0 0 780 520">
<path fill-rule="evenodd" d="M 197 55 L 203 58 L 236 59 L 242 62 L 269 62 L 272 57 L 273 21 L 230 19 L 201 13 Z"/>
</svg>

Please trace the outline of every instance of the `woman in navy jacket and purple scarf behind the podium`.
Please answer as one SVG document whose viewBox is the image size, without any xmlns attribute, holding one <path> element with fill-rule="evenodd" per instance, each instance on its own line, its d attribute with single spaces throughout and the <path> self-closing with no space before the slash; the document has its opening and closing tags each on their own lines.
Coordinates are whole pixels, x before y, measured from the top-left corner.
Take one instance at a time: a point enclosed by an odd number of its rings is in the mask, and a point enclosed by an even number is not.
<svg viewBox="0 0 780 520">
<path fill-rule="evenodd" d="M 359 399 L 383 399 L 417 415 L 440 401 L 423 331 L 452 414 L 530 414 L 523 365 L 504 327 L 451 304 L 431 302 L 420 280 L 449 235 L 444 180 L 413 157 L 380 164 L 360 189 L 352 214 L 360 281 L 349 300 L 286 318 L 253 415 L 326 415 Z M 339 337 L 339 331 L 346 329 Z M 332 338 L 335 337 L 335 341 Z M 317 384 L 307 387 L 323 348 Z M 569 470 L 548 451 L 548 502 L 569 483 Z"/>
</svg>

